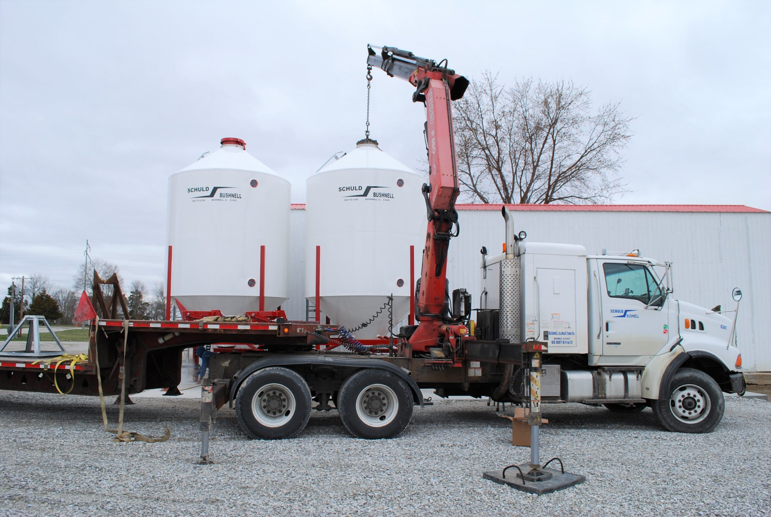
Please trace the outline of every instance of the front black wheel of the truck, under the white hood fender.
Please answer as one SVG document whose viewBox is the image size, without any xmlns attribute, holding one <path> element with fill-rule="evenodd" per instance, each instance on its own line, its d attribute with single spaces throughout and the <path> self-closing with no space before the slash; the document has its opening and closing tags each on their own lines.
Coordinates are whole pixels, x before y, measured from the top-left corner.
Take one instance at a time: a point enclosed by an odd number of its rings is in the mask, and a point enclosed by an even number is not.
<svg viewBox="0 0 771 517">
<path fill-rule="evenodd" d="M 652 401 L 656 420 L 668 431 L 707 433 L 722 420 L 726 409 L 720 387 L 703 371 L 680 368 L 663 400 Z"/>
</svg>

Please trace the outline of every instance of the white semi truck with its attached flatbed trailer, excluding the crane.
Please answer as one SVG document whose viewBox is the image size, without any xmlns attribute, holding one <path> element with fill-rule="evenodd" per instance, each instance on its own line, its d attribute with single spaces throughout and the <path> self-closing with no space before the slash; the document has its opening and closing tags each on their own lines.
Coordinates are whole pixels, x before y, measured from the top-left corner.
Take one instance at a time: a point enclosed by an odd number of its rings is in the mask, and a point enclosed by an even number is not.
<svg viewBox="0 0 771 517">
<path fill-rule="evenodd" d="M 574 244 L 530 243 L 524 232 L 515 236 L 505 207 L 503 215 L 507 252 L 483 254 L 483 288 L 473 297 L 479 308 L 472 311 L 466 290 L 446 289 L 443 318 L 450 323 L 426 352 L 408 346 L 417 325 L 401 327 L 392 344 L 352 349 L 355 340 L 339 341 L 342 327 L 288 321 L 278 312 L 250 313 L 246 322 L 123 321 L 117 302 L 95 290 L 106 319 L 92 322 L 89 359 L 66 378 L 59 372 L 59 386 L 56 372 L 67 364 L 0 361 L 0 389 L 96 395 L 99 374 L 104 394 L 123 387 L 126 394 L 177 393 L 183 350 L 214 344 L 200 417 L 206 459 L 211 419 L 228 403 L 248 436 L 269 439 L 298 435 L 314 408 L 335 408 L 359 438 L 392 438 L 409 424 L 413 405 L 424 405 L 421 388 L 532 406 L 537 353 L 540 401 L 611 411 L 650 406 L 670 431 L 712 431 L 722 418 L 722 392 L 745 390 L 732 320 L 717 307 L 673 298 L 669 264 L 639 253 L 589 256 Z M 447 331 L 452 327 L 457 334 Z M 99 367 L 91 359 L 97 351 Z"/>
</svg>

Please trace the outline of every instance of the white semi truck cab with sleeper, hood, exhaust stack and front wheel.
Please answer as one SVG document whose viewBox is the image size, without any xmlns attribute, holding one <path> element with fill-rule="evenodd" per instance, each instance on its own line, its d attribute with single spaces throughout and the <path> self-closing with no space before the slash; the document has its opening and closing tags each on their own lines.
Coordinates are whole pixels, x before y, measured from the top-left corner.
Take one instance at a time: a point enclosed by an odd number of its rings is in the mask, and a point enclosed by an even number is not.
<svg viewBox="0 0 771 517">
<path fill-rule="evenodd" d="M 719 424 L 722 391 L 745 391 L 735 320 L 672 297 L 671 264 L 638 250 L 588 255 L 575 244 L 525 242 L 505 207 L 503 217 L 508 253 L 483 249 L 477 334 L 547 342 L 543 401 L 650 406 L 670 431 Z M 521 388 L 513 382 L 510 395 L 524 398 Z"/>
</svg>

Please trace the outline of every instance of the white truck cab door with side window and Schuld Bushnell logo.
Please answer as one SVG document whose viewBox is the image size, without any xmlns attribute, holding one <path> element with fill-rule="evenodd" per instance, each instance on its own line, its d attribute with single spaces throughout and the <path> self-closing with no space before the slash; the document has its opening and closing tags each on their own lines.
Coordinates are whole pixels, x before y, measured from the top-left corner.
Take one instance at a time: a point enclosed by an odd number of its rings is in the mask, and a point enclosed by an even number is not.
<svg viewBox="0 0 771 517">
<path fill-rule="evenodd" d="M 668 341 L 666 300 L 645 264 L 601 262 L 604 356 L 652 356 Z M 645 305 L 655 300 L 647 309 Z"/>
</svg>

